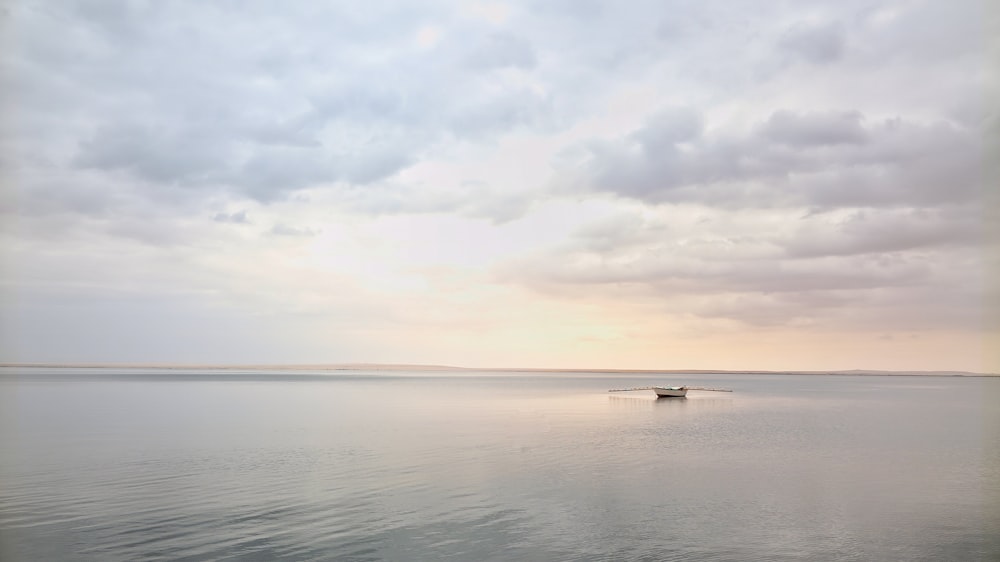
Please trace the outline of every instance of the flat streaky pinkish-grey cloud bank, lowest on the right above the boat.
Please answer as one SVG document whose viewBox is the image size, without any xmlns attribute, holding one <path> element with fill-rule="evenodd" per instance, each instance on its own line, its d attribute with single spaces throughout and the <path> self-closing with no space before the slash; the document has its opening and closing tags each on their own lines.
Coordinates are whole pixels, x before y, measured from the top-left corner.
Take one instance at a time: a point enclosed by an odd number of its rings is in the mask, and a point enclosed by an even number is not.
<svg viewBox="0 0 1000 562">
<path fill-rule="evenodd" d="M 982 272 L 974 249 L 980 232 L 962 225 L 967 218 L 672 207 L 595 223 L 496 273 L 543 294 L 642 302 L 663 314 L 742 325 L 975 330 L 983 293 L 967 280 Z"/>
</svg>

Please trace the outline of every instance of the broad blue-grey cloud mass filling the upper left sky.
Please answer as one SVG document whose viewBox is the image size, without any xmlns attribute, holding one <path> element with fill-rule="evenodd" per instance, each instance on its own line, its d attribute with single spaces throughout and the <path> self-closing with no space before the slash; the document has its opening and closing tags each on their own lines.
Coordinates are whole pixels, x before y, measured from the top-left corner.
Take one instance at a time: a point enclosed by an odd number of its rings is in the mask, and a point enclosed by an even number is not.
<svg viewBox="0 0 1000 562">
<path fill-rule="evenodd" d="M 499 135 L 553 113 L 507 79 L 480 82 L 490 69 L 533 67 L 525 38 L 465 22 L 420 51 L 421 22 L 454 15 L 380 5 L 366 15 L 204 4 L 192 17 L 177 6 L 29 3 L 15 14 L 26 30 L 21 111 L 46 150 L 65 149 L 57 166 L 142 180 L 134 189 L 152 198 L 197 187 L 265 202 L 378 182 L 453 135 Z M 452 43 L 470 36 L 483 38 L 471 52 Z"/>
</svg>

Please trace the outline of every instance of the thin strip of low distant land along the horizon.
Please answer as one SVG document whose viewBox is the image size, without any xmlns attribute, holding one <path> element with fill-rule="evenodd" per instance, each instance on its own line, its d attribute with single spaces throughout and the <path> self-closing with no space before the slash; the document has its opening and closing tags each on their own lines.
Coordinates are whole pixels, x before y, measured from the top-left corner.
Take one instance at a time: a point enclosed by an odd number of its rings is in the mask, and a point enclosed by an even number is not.
<svg viewBox="0 0 1000 562">
<path fill-rule="evenodd" d="M 1000 377 L 1000 373 L 969 371 L 884 371 L 849 369 L 832 371 L 768 371 L 731 369 L 540 369 L 531 367 L 456 367 L 452 365 L 408 365 L 398 363 L 324 363 L 324 364 L 169 364 L 169 363 L 0 363 L 0 368 L 47 369 L 164 369 L 206 371 L 464 371 L 507 373 L 664 373 L 705 375 L 836 375 L 836 376 L 925 376 L 925 377 Z"/>
</svg>

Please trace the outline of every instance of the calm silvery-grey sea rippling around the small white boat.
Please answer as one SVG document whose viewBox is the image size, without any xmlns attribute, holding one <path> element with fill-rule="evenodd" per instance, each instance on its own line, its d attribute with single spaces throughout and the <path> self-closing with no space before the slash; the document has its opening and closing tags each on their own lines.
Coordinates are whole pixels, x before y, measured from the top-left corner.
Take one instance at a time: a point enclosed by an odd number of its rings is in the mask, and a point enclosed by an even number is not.
<svg viewBox="0 0 1000 562">
<path fill-rule="evenodd" d="M 997 561 L 1000 378 L 0 369 L 0 560 L 442 559 Z"/>
</svg>

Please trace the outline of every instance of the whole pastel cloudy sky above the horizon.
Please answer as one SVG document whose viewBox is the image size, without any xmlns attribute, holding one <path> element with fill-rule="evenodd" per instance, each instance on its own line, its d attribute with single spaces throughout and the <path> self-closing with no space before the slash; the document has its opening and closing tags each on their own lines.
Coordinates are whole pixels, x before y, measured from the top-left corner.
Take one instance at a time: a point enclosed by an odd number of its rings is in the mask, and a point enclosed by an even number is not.
<svg viewBox="0 0 1000 562">
<path fill-rule="evenodd" d="M 1000 372 L 989 2 L 0 10 L 0 361 Z"/>
</svg>

